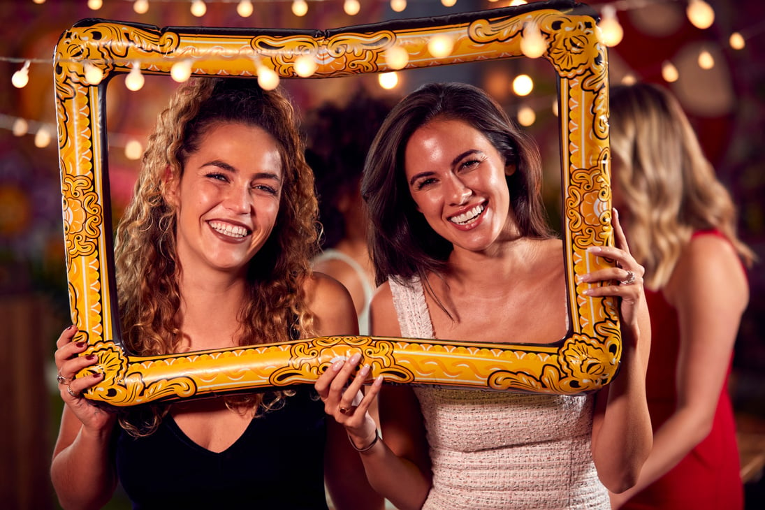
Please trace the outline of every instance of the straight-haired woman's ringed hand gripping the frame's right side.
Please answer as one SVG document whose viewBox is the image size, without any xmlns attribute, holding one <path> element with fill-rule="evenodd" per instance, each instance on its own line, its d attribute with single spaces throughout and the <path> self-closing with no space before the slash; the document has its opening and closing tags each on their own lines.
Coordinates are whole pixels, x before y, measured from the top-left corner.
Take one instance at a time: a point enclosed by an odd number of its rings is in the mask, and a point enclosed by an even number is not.
<svg viewBox="0 0 765 510">
<path fill-rule="evenodd" d="M 619 223 L 619 213 L 614 209 L 612 225 L 616 246 L 591 246 L 588 252 L 598 257 L 610 258 L 616 261 L 612 268 L 600 269 L 588 274 L 582 274 L 579 281 L 582 283 L 597 283 L 605 281 L 610 284 L 593 286 L 581 292 L 592 297 L 618 296 L 621 298 L 621 320 L 627 324 L 633 324 L 637 320 L 638 307 L 643 303 L 643 274 L 645 268 L 638 264 L 630 253 L 630 246 Z M 611 283 L 613 282 L 613 283 Z"/>
</svg>

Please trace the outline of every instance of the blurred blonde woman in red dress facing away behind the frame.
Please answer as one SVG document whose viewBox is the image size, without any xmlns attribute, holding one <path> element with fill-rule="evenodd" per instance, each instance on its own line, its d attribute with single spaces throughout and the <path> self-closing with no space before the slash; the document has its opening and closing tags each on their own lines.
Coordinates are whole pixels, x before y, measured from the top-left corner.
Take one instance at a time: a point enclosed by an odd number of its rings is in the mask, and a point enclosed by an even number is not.
<svg viewBox="0 0 765 510">
<path fill-rule="evenodd" d="M 646 268 L 653 327 L 648 399 L 653 450 L 614 508 L 743 505 L 728 376 L 753 252 L 731 196 L 677 99 L 636 83 L 610 91 L 614 204 Z"/>
</svg>

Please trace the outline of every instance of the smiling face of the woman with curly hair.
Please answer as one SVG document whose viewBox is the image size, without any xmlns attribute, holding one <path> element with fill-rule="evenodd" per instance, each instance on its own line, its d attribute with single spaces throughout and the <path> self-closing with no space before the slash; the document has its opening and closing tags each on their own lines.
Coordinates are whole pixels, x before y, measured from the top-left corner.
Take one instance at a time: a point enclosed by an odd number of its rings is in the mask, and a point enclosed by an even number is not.
<svg viewBox="0 0 765 510">
<path fill-rule="evenodd" d="M 268 132 L 241 123 L 211 125 L 187 158 L 180 183 L 170 186 L 184 271 L 243 272 L 274 228 L 282 180 L 279 147 Z"/>
</svg>

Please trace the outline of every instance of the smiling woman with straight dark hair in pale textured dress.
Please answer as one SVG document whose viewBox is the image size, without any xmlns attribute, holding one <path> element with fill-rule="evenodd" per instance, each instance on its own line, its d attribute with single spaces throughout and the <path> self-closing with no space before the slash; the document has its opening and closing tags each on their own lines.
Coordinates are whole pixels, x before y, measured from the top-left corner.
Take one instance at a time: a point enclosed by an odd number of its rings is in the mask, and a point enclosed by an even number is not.
<svg viewBox="0 0 765 510">
<path fill-rule="evenodd" d="M 542 206 L 534 142 L 486 93 L 431 83 L 376 135 L 362 182 L 381 284 L 373 335 L 519 343 L 568 332 L 563 246 Z M 325 411 L 360 451 L 369 482 L 397 508 L 610 508 L 651 447 L 650 343 L 643 268 L 614 216 L 614 267 L 580 274 L 620 304 L 622 358 L 594 394 L 386 387 L 360 355 L 316 382 Z M 358 369 L 353 382 L 350 375 Z M 376 395 L 382 437 L 366 412 Z"/>
</svg>

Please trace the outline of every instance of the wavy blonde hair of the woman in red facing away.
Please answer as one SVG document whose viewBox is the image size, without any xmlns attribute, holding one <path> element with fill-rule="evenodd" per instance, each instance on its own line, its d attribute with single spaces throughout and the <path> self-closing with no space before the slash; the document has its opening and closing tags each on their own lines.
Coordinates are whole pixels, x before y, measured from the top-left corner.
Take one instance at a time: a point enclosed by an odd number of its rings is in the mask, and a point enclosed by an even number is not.
<svg viewBox="0 0 765 510">
<path fill-rule="evenodd" d="M 621 164 L 614 187 L 627 209 L 630 250 L 646 287 L 663 287 L 693 232 L 716 229 L 746 265 L 754 252 L 738 239 L 736 209 L 715 176 L 677 99 L 648 83 L 610 90 L 610 148 Z"/>
</svg>

